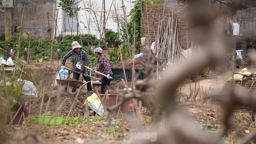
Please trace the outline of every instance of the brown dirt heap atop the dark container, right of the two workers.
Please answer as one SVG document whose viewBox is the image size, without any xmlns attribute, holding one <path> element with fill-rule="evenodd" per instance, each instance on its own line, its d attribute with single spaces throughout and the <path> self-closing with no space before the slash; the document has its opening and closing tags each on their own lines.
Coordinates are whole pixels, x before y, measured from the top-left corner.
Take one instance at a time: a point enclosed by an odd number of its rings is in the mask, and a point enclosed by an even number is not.
<svg viewBox="0 0 256 144">
<path fill-rule="evenodd" d="M 120 61 L 118 64 L 114 64 L 113 67 L 122 68 L 123 67 L 122 62 Z M 140 58 L 134 59 L 134 68 L 144 68 L 144 67 L 145 67 L 144 60 Z M 124 68 L 132 68 L 132 58 L 124 61 Z"/>
</svg>

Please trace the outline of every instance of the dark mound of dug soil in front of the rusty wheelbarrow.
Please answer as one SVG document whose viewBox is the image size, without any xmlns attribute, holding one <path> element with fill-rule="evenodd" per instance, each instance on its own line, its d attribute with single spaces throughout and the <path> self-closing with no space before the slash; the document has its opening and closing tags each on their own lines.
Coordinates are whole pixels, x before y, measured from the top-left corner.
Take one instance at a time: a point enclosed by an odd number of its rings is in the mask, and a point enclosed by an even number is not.
<svg viewBox="0 0 256 144">
<path fill-rule="evenodd" d="M 77 100 L 75 102 L 75 105 L 70 113 L 70 116 L 83 116 L 84 112 L 86 111 L 86 106 L 84 105 L 84 101 L 86 100 L 87 97 L 91 96 L 92 93 L 95 92 L 95 90 L 87 92 L 84 90 L 81 90 Z M 60 93 L 60 103 L 62 101 L 64 101 L 66 98 L 68 98 L 67 102 L 64 104 L 64 106 L 61 108 L 61 114 L 64 116 L 68 115 L 68 112 L 72 106 L 72 103 L 76 97 L 77 92 L 74 93 Z M 44 100 L 43 100 L 43 106 L 42 106 L 42 112 L 41 114 L 44 113 L 46 105 L 47 105 L 47 101 L 48 98 L 50 96 L 50 91 L 49 93 L 46 93 L 44 95 Z M 51 113 L 55 112 L 56 109 L 56 105 L 58 105 L 57 103 L 57 98 L 58 98 L 58 93 L 53 93 L 52 94 L 52 98 L 48 107 L 47 111 L 51 111 Z M 42 102 L 42 98 L 35 98 L 31 101 L 31 106 L 30 106 L 30 115 L 38 115 L 40 112 L 40 107 L 41 107 L 41 102 Z M 29 107 L 29 106 L 28 106 Z"/>
</svg>

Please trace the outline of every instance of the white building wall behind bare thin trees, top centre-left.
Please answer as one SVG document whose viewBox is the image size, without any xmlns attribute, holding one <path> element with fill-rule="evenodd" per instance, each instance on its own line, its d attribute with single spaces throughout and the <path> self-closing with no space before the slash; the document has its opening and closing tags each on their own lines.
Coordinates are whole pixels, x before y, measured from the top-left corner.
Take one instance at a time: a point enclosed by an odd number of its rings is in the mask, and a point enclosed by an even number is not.
<svg viewBox="0 0 256 144">
<path fill-rule="evenodd" d="M 115 2 L 116 1 L 116 2 Z M 133 7 L 133 3 L 131 2 L 132 0 L 124 0 L 124 5 L 125 5 L 125 10 L 126 10 L 126 15 L 129 14 L 130 10 Z M 103 0 L 84 0 L 79 2 L 79 7 L 81 7 L 81 10 L 78 11 L 78 27 L 79 27 L 79 34 L 92 34 L 97 36 L 97 38 L 100 38 L 100 32 L 102 33 L 102 21 L 103 21 Z M 105 11 L 106 11 L 106 29 L 112 29 L 113 31 L 117 32 L 118 27 L 117 23 L 113 20 L 113 13 L 115 12 L 114 4 L 116 6 L 116 11 L 119 13 L 120 16 L 123 16 L 123 9 L 121 8 L 122 6 L 122 1 L 121 0 L 114 0 L 113 4 L 111 6 L 112 1 L 111 0 L 105 0 Z M 111 7 L 111 8 L 110 8 Z M 63 15 L 63 10 L 58 8 L 58 20 L 57 20 L 57 31 L 56 31 L 56 36 L 60 34 L 71 34 L 71 31 L 66 29 L 64 31 L 63 29 L 63 20 L 64 20 L 64 15 Z M 85 9 L 85 8 L 91 8 L 91 9 Z M 94 15 L 94 12 L 95 15 Z M 110 11 L 110 13 L 109 13 Z M 57 11 L 56 11 L 57 13 Z M 108 16 L 109 13 L 109 16 Z M 108 17 L 108 19 L 107 19 Z M 97 20 L 100 26 L 100 32 L 98 30 L 98 24 Z M 69 21 L 70 24 L 72 23 Z M 73 25 L 76 26 L 76 21 L 73 22 Z M 76 35 L 77 31 L 73 30 L 72 35 Z"/>
</svg>

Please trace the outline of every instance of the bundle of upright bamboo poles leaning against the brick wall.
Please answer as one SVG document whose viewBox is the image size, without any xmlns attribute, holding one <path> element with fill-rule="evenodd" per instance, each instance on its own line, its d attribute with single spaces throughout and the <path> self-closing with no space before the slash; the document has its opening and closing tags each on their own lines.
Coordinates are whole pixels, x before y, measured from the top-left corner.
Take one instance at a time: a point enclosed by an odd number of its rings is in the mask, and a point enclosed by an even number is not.
<svg viewBox="0 0 256 144">
<path fill-rule="evenodd" d="M 177 18 L 173 14 L 169 15 L 166 24 L 162 20 L 157 28 L 156 46 L 158 49 L 158 59 L 167 59 L 169 66 L 188 60 L 189 57 L 198 51 L 197 44 L 192 40 L 191 48 L 182 52 L 178 41 L 179 32 L 180 28 L 178 27 Z"/>
</svg>

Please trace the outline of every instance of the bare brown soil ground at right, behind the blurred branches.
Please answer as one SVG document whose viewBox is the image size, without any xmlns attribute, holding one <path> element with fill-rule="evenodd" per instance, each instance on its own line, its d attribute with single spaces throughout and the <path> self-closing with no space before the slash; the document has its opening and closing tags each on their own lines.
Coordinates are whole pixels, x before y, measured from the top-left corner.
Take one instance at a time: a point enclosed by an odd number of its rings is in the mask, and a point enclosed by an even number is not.
<svg viewBox="0 0 256 144">
<path fill-rule="evenodd" d="M 248 69 L 249 72 L 254 73 L 256 72 L 256 68 L 255 66 L 244 66 L 245 68 Z M 241 71 L 243 68 L 241 69 L 234 69 L 234 72 L 239 72 Z M 205 101 L 204 99 L 204 92 L 208 92 L 210 93 L 210 89 L 212 88 L 214 89 L 219 89 L 222 90 L 226 83 L 227 83 L 227 79 L 232 77 L 232 71 L 224 71 L 220 74 L 217 75 L 216 72 L 214 72 L 212 75 L 209 75 L 208 79 L 204 79 L 204 80 L 200 80 L 199 84 L 200 84 L 200 93 L 201 93 L 201 97 L 199 96 L 199 94 L 196 97 L 196 102 L 199 104 L 204 104 L 207 101 L 207 105 L 211 106 L 212 109 L 207 109 L 207 119 L 205 116 L 205 108 L 201 108 L 201 107 L 197 107 L 197 106 L 188 106 L 184 108 L 184 111 L 186 111 L 189 115 L 189 118 L 191 118 L 196 124 L 200 124 L 200 123 L 207 123 L 208 124 L 212 124 L 214 126 L 214 128 L 212 129 L 212 131 L 218 131 L 220 129 L 222 129 L 223 125 L 221 122 L 221 106 L 219 105 L 218 102 L 215 102 L 212 99 L 207 99 Z M 191 81 L 191 89 L 194 95 L 194 91 L 195 91 L 195 82 Z M 202 89 L 203 87 L 203 89 Z M 198 82 L 196 84 L 196 91 L 199 88 L 198 86 Z M 210 89 L 209 89 L 210 88 Z M 187 79 L 186 81 L 184 81 L 183 84 L 181 84 L 181 86 L 179 88 L 177 88 L 178 91 L 181 92 L 181 96 L 183 97 L 183 99 L 186 99 L 189 94 L 190 94 L 190 88 L 189 88 L 189 80 Z M 244 87 L 242 87 L 242 90 L 244 90 Z M 177 97 L 180 97 L 180 95 L 177 92 Z M 180 102 L 183 103 L 182 99 L 180 99 Z M 233 113 L 233 122 L 236 124 L 239 132 L 244 133 L 245 130 L 250 129 L 250 110 L 247 107 L 237 107 L 237 110 L 240 111 L 236 111 Z M 239 115 L 241 116 L 241 121 L 239 119 Z M 243 123 L 243 124 L 241 124 Z M 244 125 L 244 127 L 242 126 Z M 235 131 L 235 129 L 234 129 Z"/>
</svg>

